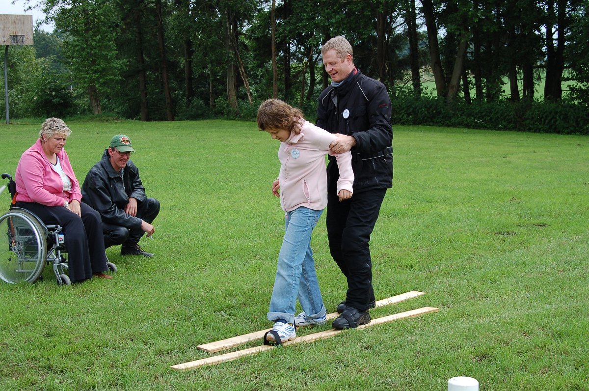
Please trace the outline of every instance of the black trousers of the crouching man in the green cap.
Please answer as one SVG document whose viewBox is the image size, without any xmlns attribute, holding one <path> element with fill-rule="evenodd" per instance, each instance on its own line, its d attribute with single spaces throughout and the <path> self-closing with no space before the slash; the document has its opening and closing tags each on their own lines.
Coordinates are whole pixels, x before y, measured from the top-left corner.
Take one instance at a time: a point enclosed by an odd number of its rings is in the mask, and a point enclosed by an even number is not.
<svg viewBox="0 0 589 391">
<path fill-rule="evenodd" d="M 143 221 L 151 224 L 158 213 L 160 213 L 160 202 L 155 198 L 148 198 L 138 203 L 137 216 Z M 141 236 L 145 234 L 141 227 L 128 229 L 121 225 L 102 223 L 102 232 L 104 233 L 104 248 L 122 244 L 123 247 L 132 247 L 139 242 Z"/>
</svg>

